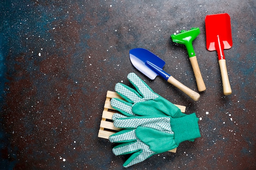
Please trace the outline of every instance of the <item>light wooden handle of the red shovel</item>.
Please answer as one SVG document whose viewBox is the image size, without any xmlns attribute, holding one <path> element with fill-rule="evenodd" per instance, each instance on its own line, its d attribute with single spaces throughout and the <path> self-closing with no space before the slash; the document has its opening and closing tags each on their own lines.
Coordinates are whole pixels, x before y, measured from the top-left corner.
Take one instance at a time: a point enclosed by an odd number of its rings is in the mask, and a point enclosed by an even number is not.
<svg viewBox="0 0 256 170">
<path fill-rule="evenodd" d="M 232 91 L 229 84 L 229 76 L 227 75 L 226 60 L 225 59 L 219 60 L 219 65 L 220 65 L 220 73 L 221 73 L 221 79 L 222 79 L 222 85 L 223 85 L 223 93 L 224 95 L 230 95 Z"/>
</svg>

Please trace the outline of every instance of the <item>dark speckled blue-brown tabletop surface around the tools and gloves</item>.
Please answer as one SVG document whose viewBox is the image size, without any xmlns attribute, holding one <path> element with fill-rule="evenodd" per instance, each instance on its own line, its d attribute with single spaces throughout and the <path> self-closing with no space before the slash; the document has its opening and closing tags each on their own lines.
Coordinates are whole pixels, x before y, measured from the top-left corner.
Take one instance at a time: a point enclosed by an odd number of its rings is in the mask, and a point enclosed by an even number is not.
<svg viewBox="0 0 256 170">
<path fill-rule="evenodd" d="M 204 18 L 215 13 L 231 17 L 228 96 L 216 51 L 206 49 Z M 254 0 L 1 0 L 0 169 L 256 169 L 255 15 Z M 129 60 L 130 49 L 146 48 L 197 91 L 185 47 L 170 39 L 191 27 L 201 31 L 193 46 L 207 86 L 197 102 Z M 130 72 L 201 117 L 202 137 L 123 168 L 127 156 L 97 135 L 106 92 Z"/>
</svg>

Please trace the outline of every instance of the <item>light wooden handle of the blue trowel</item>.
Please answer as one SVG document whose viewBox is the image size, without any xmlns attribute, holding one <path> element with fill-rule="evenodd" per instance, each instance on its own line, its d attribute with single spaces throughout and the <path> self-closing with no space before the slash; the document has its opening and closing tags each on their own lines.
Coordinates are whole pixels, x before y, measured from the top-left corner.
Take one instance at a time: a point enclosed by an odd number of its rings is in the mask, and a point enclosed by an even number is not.
<svg viewBox="0 0 256 170">
<path fill-rule="evenodd" d="M 167 82 L 173 84 L 173 86 L 179 88 L 181 91 L 189 95 L 193 100 L 198 101 L 200 98 L 200 94 L 196 93 L 195 91 L 191 90 L 181 82 L 179 82 L 177 79 L 175 79 L 173 76 L 170 76 L 167 80 Z"/>
</svg>

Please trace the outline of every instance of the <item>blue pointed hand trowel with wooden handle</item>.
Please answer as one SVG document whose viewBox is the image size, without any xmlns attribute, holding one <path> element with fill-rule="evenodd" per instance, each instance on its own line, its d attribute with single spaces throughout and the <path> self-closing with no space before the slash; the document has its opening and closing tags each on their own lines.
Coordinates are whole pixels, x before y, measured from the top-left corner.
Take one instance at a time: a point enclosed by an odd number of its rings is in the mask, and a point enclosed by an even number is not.
<svg viewBox="0 0 256 170">
<path fill-rule="evenodd" d="M 167 82 L 173 84 L 181 91 L 189 95 L 193 100 L 197 101 L 200 94 L 186 87 L 184 84 L 176 80 L 173 76 L 169 75 L 163 70 L 164 60 L 157 57 L 157 55 L 151 53 L 146 49 L 131 49 L 130 50 L 130 60 L 141 73 L 146 75 L 150 79 L 155 79 L 157 75 L 163 77 Z"/>
</svg>

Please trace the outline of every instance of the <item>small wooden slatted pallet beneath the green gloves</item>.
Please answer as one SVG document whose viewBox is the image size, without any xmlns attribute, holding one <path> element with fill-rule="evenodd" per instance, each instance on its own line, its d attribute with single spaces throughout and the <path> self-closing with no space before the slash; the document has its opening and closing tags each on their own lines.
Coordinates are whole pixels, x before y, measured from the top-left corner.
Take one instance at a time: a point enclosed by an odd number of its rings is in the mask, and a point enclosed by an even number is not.
<svg viewBox="0 0 256 170">
<path fill-rule="evenodd" d="M 99 134 L 98 134 L 98 137 L 105 138 L 105 139 L 108 139 L 110 135 L 122 130 L 121 128 L 116 128 L 113 125 L 112 116 L 114 115 L 114 113 L 120 113 L 120 112 L 112 108 L 112 106 L 110 105 L 110 100 L 112 98 L 122 99 L 121 96 L 119 96 L 116 92 L 113 92 L 113 91 L 107 92 L 107 97 L 106 97 L 106 101 L 105 101 L 105 105 L 102 113 L 101 124 L 100 124 Z M 186 110 L 186 106 L 181 106 L 176 104 L 175 106 L 180 108 L 182 113 L 184 113 Z M 176 149 L 177 148 L 169 151 L 176 152 Z"/>
</svg>

